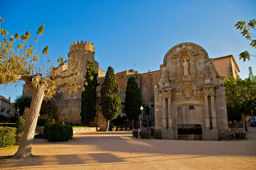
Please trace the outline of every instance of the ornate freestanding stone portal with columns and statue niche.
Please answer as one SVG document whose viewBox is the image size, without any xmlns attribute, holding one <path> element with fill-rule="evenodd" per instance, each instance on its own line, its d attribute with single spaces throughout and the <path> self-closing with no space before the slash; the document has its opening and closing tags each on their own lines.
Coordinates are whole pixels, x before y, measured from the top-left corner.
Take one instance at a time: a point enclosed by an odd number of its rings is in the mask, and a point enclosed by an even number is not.
<svg viewBox="0 0 256 170">
<path fill-rule="evenodd" d="M 201 46 L 182 43 L 166 53 L 155 88 L 156 139 L 179 139 L 178 128 L 202 127 L 203 140 L 228 130 L 223 79 Z M 178 109 L 179 108 L 179 109 Z"/>
</svg>

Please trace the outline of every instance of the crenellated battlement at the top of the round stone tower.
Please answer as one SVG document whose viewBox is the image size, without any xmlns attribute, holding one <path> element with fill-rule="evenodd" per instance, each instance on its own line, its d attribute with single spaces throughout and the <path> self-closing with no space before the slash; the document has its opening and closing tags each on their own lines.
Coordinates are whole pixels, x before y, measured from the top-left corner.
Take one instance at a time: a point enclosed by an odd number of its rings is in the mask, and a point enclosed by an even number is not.
<svg viewBox="0 0 256 170">
<path fill-rule="evenodd" d="M 87 41 L 77 41 L 70 45 L 69 54 L 91 52 L 95 53 L 94 43 L 87 43 Z"/>
</svg>

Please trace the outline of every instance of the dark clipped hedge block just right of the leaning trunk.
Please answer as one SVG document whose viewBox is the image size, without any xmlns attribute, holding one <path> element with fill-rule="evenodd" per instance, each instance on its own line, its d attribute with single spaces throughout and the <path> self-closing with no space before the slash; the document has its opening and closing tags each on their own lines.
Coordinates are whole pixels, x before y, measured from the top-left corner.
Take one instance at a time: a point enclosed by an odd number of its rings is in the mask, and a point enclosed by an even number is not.
<svg viewBox="0 0 256 170">
<path fill-rule="evenodd" d="M 67 141 L 73 139 L 71 125 L 53 124 L 49 126 L 48 139 L 50 142 Z"/>
</svg>

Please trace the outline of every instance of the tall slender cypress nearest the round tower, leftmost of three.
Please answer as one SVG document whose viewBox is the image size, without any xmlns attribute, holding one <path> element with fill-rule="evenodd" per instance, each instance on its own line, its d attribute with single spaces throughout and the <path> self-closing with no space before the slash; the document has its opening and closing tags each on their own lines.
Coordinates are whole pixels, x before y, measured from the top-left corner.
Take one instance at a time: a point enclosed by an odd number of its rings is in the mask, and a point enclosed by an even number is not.
<svg viewBox="0 0 256 170">
<path fill-rule="evenodd" d="M 81 123 L 89 126 L 96 116 L 96 87 L 99 86 L 97 81 L 97 70 L 91 60 L 87 59 L 84 91 L 81 99 Z"/>
</svg>

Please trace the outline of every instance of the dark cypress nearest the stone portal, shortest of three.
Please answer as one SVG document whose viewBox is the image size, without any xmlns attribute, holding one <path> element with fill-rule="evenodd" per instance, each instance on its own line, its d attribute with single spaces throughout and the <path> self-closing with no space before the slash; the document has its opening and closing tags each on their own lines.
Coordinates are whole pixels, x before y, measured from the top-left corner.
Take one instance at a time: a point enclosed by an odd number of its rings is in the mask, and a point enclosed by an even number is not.
<svg viewBox="0 0 256 170">
<path fill-rule="evenodd" d="M 131 77 L 127 81 L 127 87 L 125 91 L 125 103 L 124 108 L 126 117 L 129 120 L 135 120 L 141 114 L 140 107 L 142 105 L 142 99 L 138 83 L 134 77 Z"/>
</svg>

